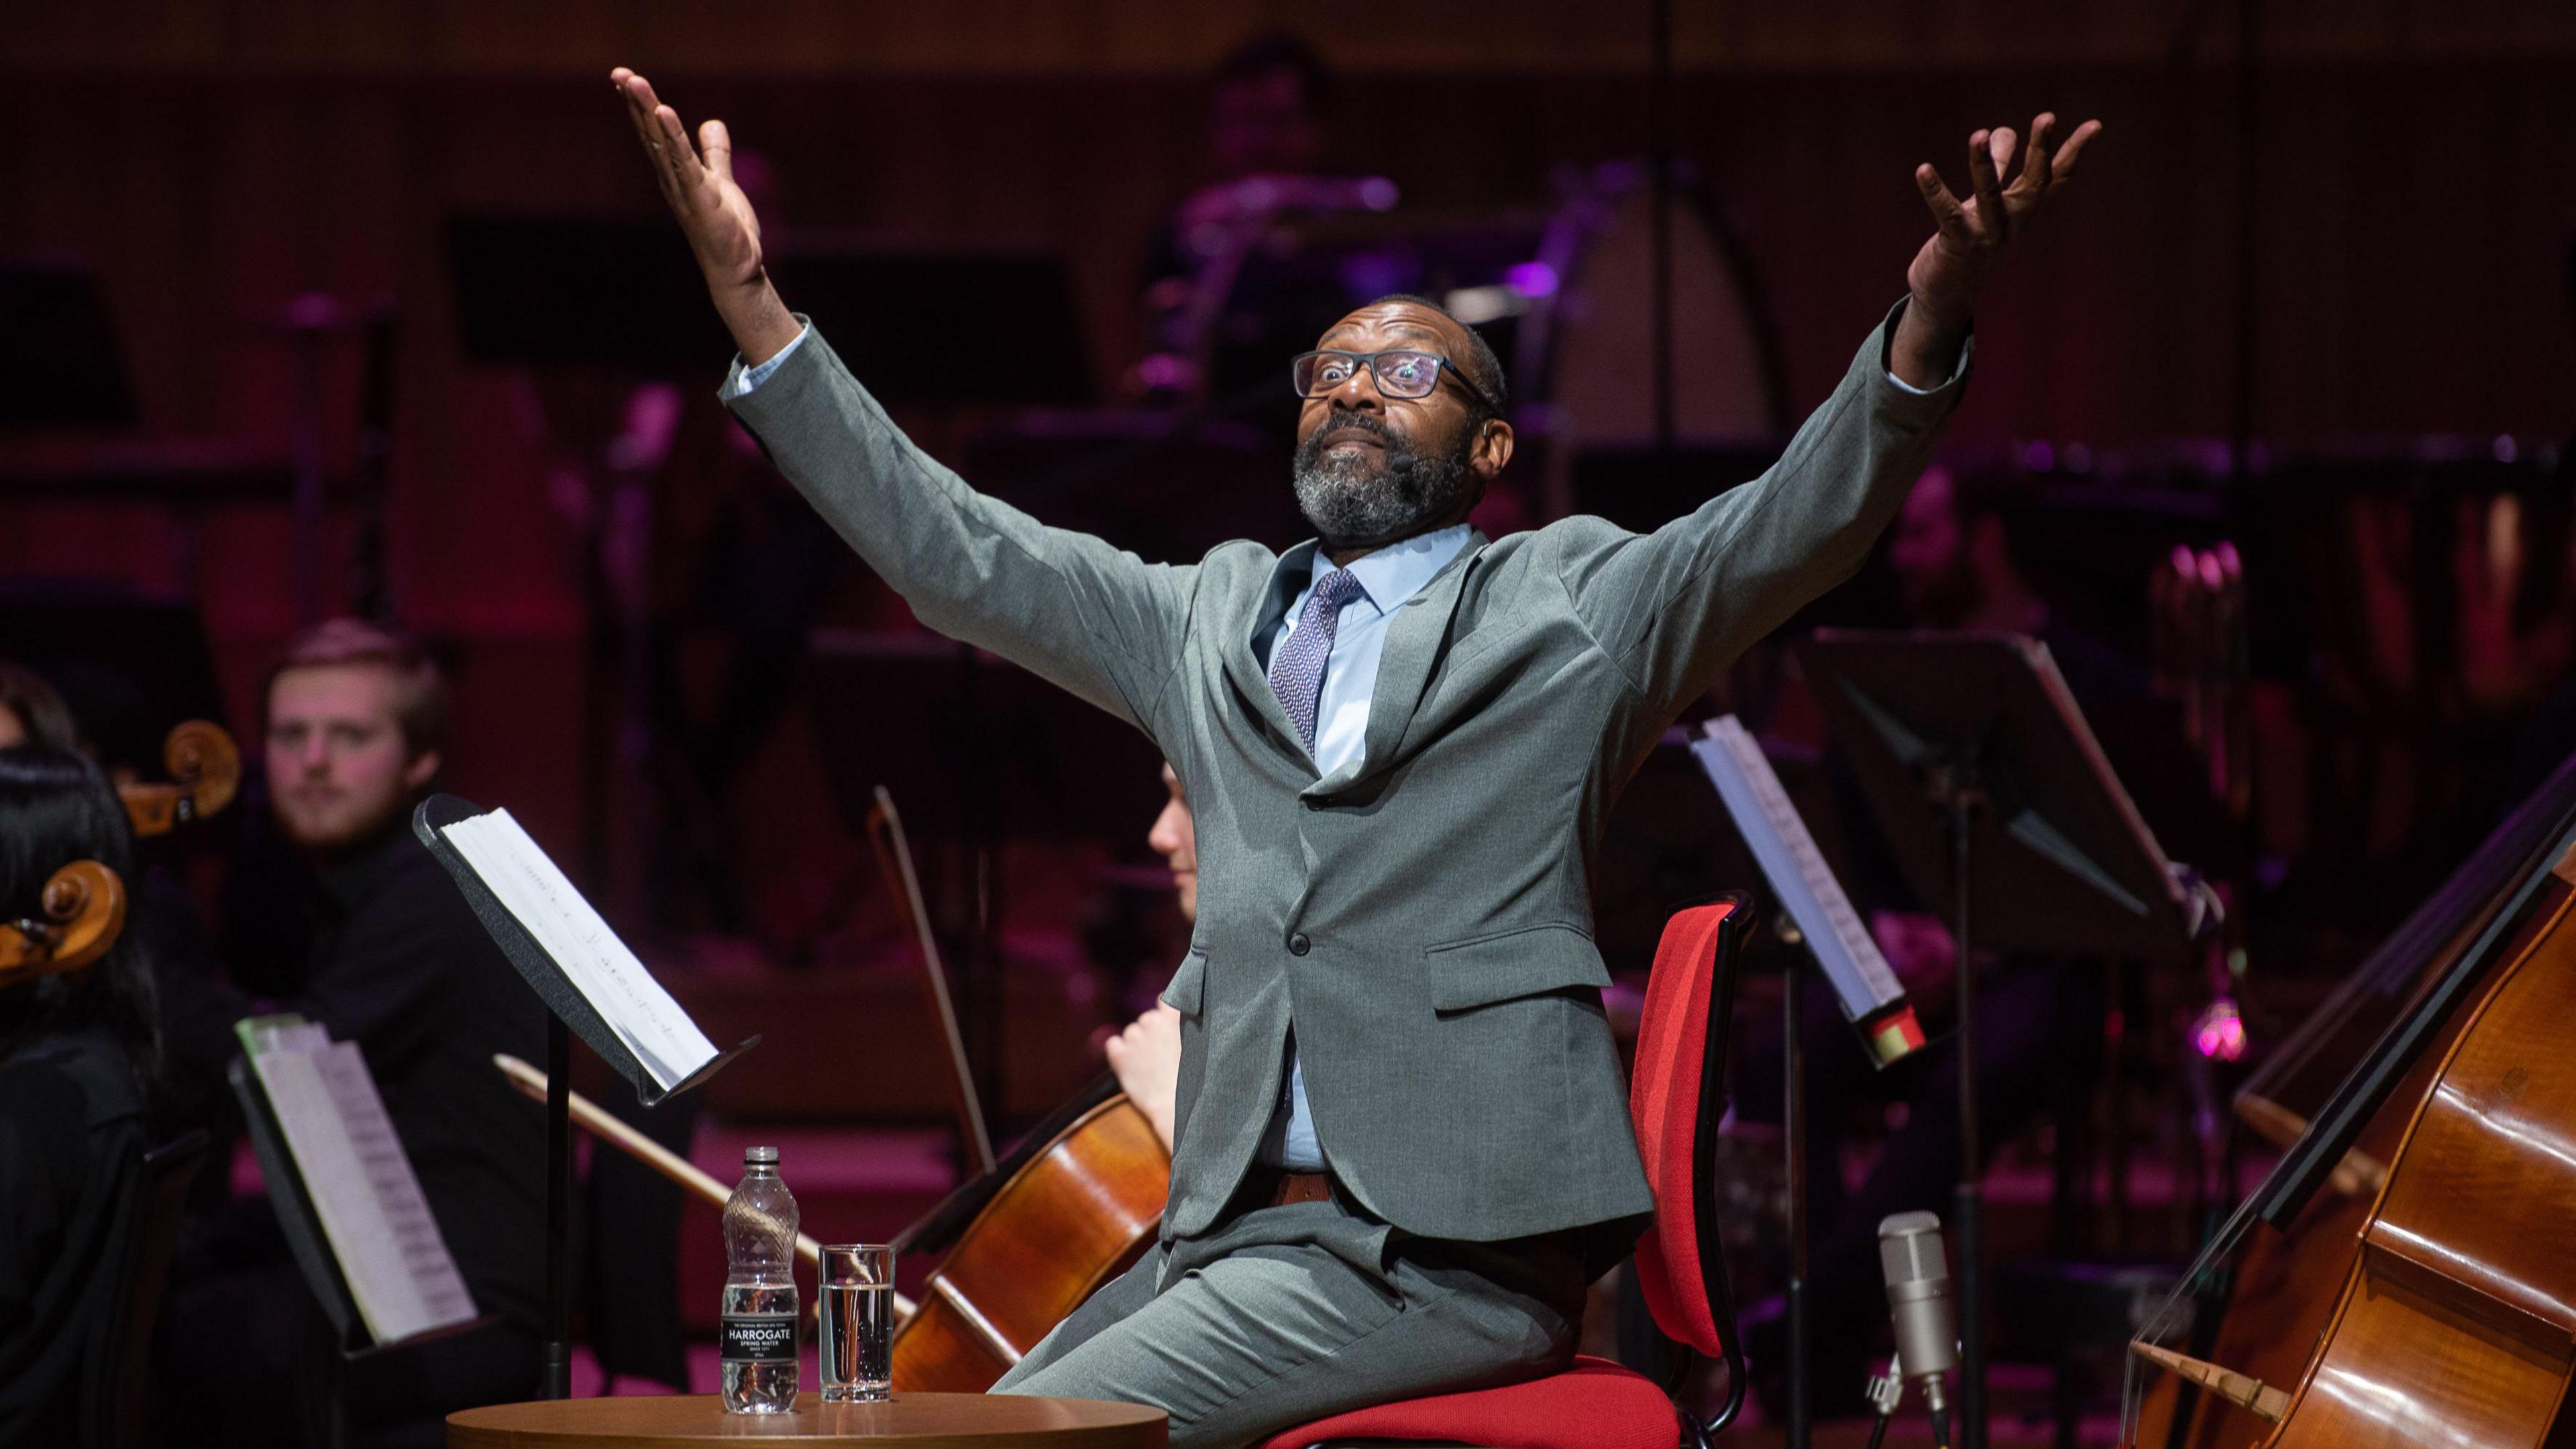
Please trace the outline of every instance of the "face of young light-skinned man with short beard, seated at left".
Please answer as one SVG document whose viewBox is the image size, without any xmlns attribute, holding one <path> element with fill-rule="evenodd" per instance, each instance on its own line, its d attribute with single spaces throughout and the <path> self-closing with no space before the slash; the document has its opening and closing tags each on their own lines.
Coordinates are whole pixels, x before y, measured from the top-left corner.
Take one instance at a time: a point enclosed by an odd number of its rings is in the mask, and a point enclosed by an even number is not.
<svg viewBox="0 0 2576 1449">
<path fill-rule="evenodd" d="M 337 851 L 384 830 L 438 773 L 410 753 L 386 665 L 291 668 L 268 686 L 268 789 L 286 838 Z"/>
</svg>

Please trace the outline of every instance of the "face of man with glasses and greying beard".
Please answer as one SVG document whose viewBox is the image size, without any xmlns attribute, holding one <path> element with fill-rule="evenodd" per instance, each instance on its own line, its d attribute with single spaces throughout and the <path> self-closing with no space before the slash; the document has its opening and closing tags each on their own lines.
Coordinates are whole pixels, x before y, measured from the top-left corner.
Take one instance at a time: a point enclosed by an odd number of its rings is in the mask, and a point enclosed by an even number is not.
<svg viewBox="0 0 2576 1449">
<path fill-rule="evenodd" d="M 1342 317 L 1316 348 L 1473 356 L 1466 327 L 1412 302 Z M 1512 425 L 1473 423 L 1466 384 L 1440 369 L 1430 397 L 1386 397 L 1373 369 L 1309 397 L 1296 420 L 1296 503 L 1329 549 L 1376 549 L 1466 518 L 1512 459 Z"/>
</svg>

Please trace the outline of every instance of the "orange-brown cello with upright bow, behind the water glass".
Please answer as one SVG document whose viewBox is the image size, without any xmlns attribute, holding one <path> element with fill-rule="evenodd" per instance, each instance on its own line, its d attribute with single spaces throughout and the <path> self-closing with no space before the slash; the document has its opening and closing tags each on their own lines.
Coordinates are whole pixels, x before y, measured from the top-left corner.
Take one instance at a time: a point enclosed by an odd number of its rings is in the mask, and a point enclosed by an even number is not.
<svg viewBox="0 0 2576 1449">
<path fill-rule="evenodd" d="M 912 846 L 886 786 L 876 786 L 868 843 L 930 972 L 956 1073 L 958 1134 L 984 1168 L 896 1238 L 896 1253 L 948 1248 L 948 1256 L 894 1330 L 894 1392 L 984 1392 L 1092 1289 L 1144 1256 L 1162 1227 L 1172 1158 L 1108 1073 L 1018 1150 L 992 1155 Z"/>
</svg>

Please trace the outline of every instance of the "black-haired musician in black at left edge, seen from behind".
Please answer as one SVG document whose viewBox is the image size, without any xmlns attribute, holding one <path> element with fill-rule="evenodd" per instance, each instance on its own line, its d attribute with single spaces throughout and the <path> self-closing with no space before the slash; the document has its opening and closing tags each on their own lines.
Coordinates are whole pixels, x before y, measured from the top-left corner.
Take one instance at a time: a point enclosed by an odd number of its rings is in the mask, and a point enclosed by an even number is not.
<svg viewBox="0 0 2576 1449">
<path fill-rule="evenodd" d="M 0 730 L 18 724 L 10 701 Z M 116 792 L 70 750 L 0 748 L 0 920 L 39 918 L 44 882 L 72 861 L 129 874 Z M 85 1377 L 113 1372 L 100 1354 L 157 1080 L 152 972 L 131 936 L 85 969 L 0 985 L 0 1444 L 77 1444 Z"/>
</svg>

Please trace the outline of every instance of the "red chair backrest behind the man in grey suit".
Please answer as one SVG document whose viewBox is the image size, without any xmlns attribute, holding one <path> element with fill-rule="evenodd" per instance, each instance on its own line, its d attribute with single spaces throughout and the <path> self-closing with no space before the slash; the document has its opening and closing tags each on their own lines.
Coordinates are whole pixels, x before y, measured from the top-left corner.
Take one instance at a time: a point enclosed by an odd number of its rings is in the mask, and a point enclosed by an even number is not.
<svg viewBox="0 0 2576 1449">
<path fill-rule="evenodd" d="M 1638 1289 L 1664 1336 L 1721 1356 L 1736 1336 L 1716 1235 L 1710 1145 L 1726 1111 L 1726 1026 L 1752 905 L 1723 897 L 1664 923 L 1636 1034 L 1628 1116 L 1654 1189 L 1654 1227 L 1636 1245 Z"/>
</svg>

